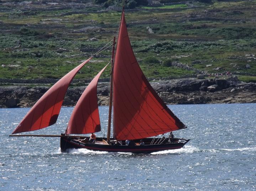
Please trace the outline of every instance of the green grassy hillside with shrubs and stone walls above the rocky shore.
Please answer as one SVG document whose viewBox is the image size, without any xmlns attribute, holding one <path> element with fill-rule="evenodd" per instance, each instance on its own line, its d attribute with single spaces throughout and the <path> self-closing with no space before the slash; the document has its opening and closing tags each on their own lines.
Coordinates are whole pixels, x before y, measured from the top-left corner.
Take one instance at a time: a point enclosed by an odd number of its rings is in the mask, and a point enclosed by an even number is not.
<svg viewBox="0 0 256 191">
<path fill-rule="evenodd" d="M 146 77 L 229 71 L 256 82 L 255 9 L 256 0 L 177 1 L 125 16 Z M 121 15 L 94 1 L 0 1 L 0 10 L 0 78 L 6 79 L 61 78 L 113 39 Z M 111 47 L 76 78 L 94 77 L 110 55 Z"/>
</svg>

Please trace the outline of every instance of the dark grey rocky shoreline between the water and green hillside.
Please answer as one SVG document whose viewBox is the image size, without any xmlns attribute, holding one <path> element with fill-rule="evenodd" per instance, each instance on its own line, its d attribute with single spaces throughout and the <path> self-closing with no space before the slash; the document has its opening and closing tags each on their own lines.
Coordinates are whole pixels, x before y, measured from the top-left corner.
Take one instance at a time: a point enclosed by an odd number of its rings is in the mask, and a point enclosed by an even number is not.
<svg viewBox="0 0 256 191">
<path fill-rule="evenodd" d="M 229 79 L 175 79 L 152 81 L 152 87 L 168 105 L 205 103 L 256 103 L 256 83 L 244 83 L 236 77 Z M 32 107 L 49 87 L 1 86 L 0 108 Z M 74 106 L 85 86 L 71 87 L 63 106 Z M 98 84 L 99 105 L 106 106 L 109 83 Z"/>
</svg>

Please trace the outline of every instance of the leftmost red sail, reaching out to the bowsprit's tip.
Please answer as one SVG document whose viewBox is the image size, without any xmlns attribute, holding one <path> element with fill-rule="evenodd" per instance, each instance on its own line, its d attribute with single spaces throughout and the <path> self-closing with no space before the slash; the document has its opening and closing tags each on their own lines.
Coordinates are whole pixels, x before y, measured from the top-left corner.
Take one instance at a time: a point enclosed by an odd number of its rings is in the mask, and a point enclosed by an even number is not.
<svg viewBox="0 0 256 191">
<path fill-rule="evenodd" d="M 43 129 L 56 123 L 69 84 L 75 74 L 91 58 L 74 68 L 54 84 L 30 109 L 12 134 Z"/>
</svg>

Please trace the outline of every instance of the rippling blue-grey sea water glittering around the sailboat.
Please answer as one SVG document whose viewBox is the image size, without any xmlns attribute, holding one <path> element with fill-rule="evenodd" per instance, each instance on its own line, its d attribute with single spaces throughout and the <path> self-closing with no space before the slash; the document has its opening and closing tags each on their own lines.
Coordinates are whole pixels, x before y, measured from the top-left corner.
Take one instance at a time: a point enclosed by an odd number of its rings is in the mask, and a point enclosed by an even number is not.
<svg viewBox="0 0 256 191">
<path fill-rule="evenodd" d="M 256 104 L 169 107 L 188 127 L 174 136 L 191 140 L 151 154 L 61 153 L 58 137 L 9 137 L 29 108 L 0 109 L 0 190 L 256 190 Z M 32 134 L 63 133 L 72 110 Z M 97 136 L 108 107 L 100 116 Z"/>
</svg>

